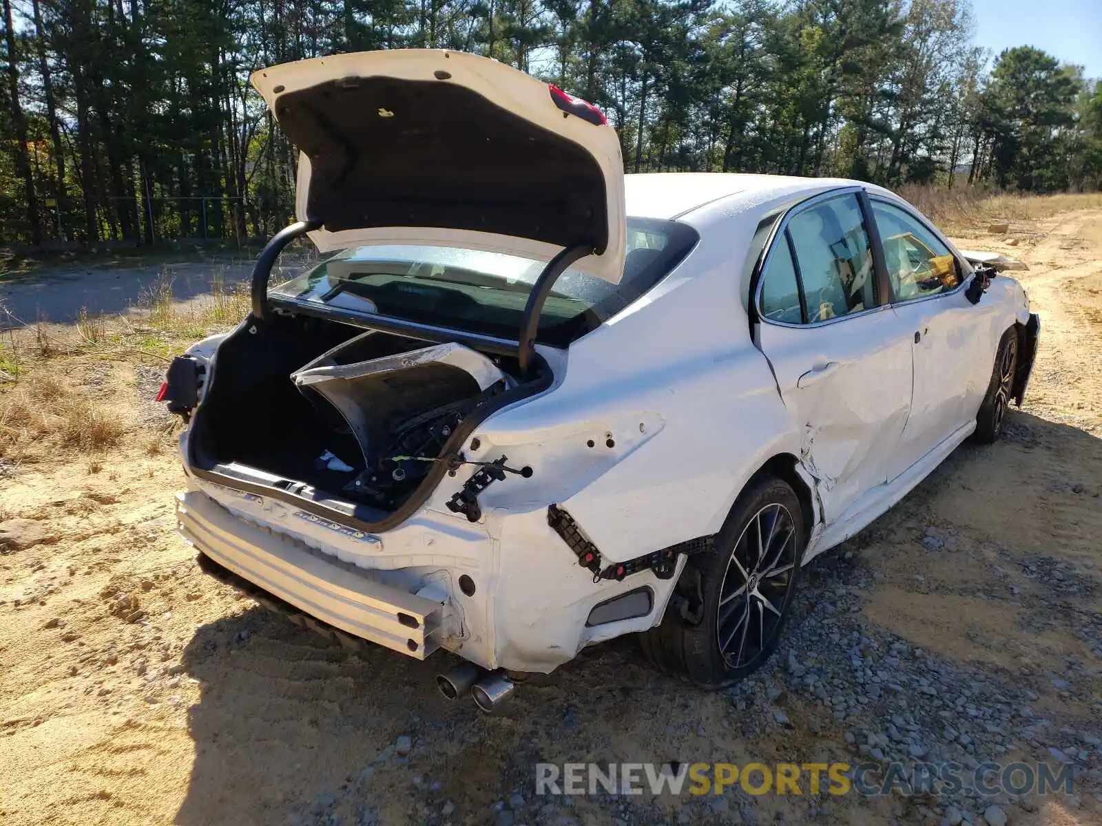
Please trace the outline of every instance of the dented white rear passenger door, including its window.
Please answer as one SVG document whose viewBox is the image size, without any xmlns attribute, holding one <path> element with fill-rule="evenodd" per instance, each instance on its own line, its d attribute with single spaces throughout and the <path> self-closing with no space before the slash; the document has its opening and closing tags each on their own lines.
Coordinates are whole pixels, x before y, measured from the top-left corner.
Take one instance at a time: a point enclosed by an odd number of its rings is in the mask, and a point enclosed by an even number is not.
<svg viewBox="0 0 1102 826">
<path fill-rule="evenodd" d="M 765 261 L 757 344 L 802 428 L 832 522 L 888 479 L 910 410 L 911 341 L 873 265 L 855 193 L 793 214 Z"/>
</svg>

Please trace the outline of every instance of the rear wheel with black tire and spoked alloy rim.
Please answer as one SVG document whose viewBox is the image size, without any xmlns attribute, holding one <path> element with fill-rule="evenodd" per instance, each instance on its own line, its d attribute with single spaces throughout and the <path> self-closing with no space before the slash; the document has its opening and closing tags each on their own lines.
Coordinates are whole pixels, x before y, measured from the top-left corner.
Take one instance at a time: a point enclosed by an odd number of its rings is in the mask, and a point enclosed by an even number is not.
<svg viewBox="0 0 1102 826">
<path fill-rule="evenodd" d="M 792 489 L 773 477 L 752 482 L 711 550 L 691 556 L 678 580 L 690 604 L 695 596 L 696 610 L 668 609 L 658 627 L 640 634 L 644 653 L 663 673 L 709 691 L 752 674 L 777 649 L 803 547 L 803 513 Z"/>
</svg>

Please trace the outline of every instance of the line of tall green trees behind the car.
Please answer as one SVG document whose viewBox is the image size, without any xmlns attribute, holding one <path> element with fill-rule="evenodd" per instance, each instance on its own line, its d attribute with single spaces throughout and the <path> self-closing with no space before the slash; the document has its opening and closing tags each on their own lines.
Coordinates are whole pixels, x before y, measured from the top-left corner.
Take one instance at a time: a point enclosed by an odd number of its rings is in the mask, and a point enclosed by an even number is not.
<svg viewBox="0 0 1102 826">
<path fill-rule="evenodd" d="M 475 52 L 595 104 L 626 171 L 1102 186 L 1102 83 L 992 62 L 968 0 L 0 0 L 0 244 L 270 233 L 296 156 L 250 72 Z"/>
</svg>

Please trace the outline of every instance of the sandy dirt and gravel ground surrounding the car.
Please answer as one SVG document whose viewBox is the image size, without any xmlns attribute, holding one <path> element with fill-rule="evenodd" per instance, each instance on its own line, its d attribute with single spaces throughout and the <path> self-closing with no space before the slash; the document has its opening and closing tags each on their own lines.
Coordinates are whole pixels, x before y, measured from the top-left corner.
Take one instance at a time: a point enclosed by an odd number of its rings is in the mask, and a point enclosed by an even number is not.
<svg viewBox="0 0 1102 826">
<path fill-rule="evenodd" d="M 0 823 L 984 823 L 975 800 L 534 793 L 539 761 L 854 763 L 919 737 L 1076 767 L 1073 796 L 991 819 L 1102 823 L 1102 211 L 961 246 L 1029 263 L 1024 409 L 813 563 L 774 662 L 716 694 L 623 640 L 488 717 L 437 694 L 445 654 L 350 655 L 198 572 L 155 371 L 53 362 L 130 431 L 0 465 L 0 521 L 40 540 L 0 556 Z"/>
</svg>

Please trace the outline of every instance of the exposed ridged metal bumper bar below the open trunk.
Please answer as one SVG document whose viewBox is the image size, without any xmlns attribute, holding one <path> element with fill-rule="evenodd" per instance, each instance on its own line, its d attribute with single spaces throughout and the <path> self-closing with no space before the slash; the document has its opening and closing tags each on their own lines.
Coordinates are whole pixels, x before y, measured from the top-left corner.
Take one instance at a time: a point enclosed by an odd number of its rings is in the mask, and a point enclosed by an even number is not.
<svg viewBox="0 0 1102 826">
<path fill-rule="evenodd" d="M 250 596 L 270 595 L 284 612 L 293 615 L 280 602 L 419 660 L 440 646 L 443 602 L 321 558 L 301 543 L 235 518 L 201 492 L 176 497 L 176 519 L 181 535 L 214 563 L 201 562 L 204 569 Z"/>
</svg>

